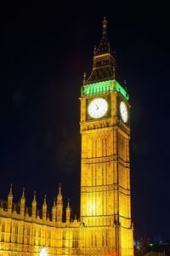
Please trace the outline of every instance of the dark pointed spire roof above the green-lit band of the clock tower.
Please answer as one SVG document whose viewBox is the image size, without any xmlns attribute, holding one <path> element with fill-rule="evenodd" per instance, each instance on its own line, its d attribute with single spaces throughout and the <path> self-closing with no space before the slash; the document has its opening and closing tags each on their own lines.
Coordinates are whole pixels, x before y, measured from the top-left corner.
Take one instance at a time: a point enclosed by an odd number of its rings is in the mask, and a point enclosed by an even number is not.
<svg viewBox="0 0 170 256">
<path fill-rule="evenodd" d="M 94 48 L 93 70 L 88 79 L 83 78 L 83 85 L 115 79 L 116 59 L 107 39 L 107 20 L 105 20 L 105 17 L 102 25 L 103 33 L 99 47 Z"/>
</svg>

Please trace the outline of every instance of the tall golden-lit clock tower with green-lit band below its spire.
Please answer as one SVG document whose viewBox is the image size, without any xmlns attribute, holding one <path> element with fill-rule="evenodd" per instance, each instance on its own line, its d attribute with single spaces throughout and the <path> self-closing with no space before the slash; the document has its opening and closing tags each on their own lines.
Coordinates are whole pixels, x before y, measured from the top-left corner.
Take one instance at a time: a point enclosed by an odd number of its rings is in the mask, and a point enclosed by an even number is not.
<svg viewBox="0 0 170 256">
<path fill-rule="evenodd" d="M 129 96 L 103 34 L 81 95 L 81 221 L 85 255 L 133 256 Z"/>
</svg>

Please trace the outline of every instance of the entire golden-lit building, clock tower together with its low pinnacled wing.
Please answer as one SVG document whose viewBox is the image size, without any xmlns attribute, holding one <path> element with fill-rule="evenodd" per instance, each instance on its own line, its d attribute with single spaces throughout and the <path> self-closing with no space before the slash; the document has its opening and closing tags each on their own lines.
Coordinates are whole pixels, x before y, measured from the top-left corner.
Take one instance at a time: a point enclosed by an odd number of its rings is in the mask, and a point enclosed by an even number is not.
<svg viewBox="0 0 170 256">
<path fill-rule="evenodd" d="M 133 256 L 129 163 L 129 96 L 116 75 L 116 58 L 107 39 L 107 21 L 80 96 L 82 137 L 80 218 L 65 209 L 61 184 L 48 212 L 44 196 L 37 209 L 34 192 L 26 207 L 25 189 L 14 203 L 0 202 L 0 256 Z"/>
</svg>

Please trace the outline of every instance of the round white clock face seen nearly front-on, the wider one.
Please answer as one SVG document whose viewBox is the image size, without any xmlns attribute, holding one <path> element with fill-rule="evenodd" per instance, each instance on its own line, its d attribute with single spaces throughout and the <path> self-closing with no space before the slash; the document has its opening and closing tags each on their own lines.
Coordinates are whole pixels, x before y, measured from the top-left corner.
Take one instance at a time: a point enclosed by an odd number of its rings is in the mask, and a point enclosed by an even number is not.
<svg viewBox="0 0 170 256">
<path fill-rule="evenodd" d="M 91 118 L 99 119 L 105 116 L 108 110 L 108 103 L 104 98 L 95 98 L 88 104 L 88 114 Z"/>
</svg>

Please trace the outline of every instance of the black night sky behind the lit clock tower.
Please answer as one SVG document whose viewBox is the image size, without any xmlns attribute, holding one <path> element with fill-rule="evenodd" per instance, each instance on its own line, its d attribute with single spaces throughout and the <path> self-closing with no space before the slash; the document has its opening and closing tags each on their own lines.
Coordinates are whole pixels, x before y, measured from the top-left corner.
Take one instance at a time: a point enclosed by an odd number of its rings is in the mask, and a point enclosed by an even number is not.
<svg viewBox="0 0 170 256">
<path fill-rule="evenodd" d="M 78 214 L 78 97 L 105 15 L 118 79 L 127 79 L 132 105 L 134 235 L 170 238 L 168 9 L 163 2 L 110 2 L 1 8 L 0 198 L 13 183 L 14 201 L 25 187 L 28 205 L 36 190 L 39 207 L 44 194 L 51 206 L 61 182 Z"/>
</svg>

